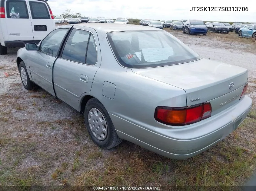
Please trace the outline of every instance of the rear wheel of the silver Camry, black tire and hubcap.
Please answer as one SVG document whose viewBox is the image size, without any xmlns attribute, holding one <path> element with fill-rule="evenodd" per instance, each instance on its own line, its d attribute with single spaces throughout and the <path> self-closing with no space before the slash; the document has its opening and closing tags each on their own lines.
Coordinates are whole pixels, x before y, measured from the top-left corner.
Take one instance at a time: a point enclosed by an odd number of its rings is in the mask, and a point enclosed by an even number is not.
<svg viewBox="0 0 256 191">
<path fill-rule="evenodd" d="M 122 142 L 122 139 L 118 137 L 115 131 L 115 127 L 110 119 L 110 116 L 108 115 L 107 110 L 102 105 L 102 103 L 99 102 L 96 98 L 91 98 L 86 103 L 84 115 L 85 115 L 85 126 L 89 132 L 89 135 L 91 136 L 91 139 L 93 140 L 93 142 L 95 142 L 95 144 L 97 144 L 103 149 L 111 149 Z M 102 116 L 104 119 L 101 118 Z M 97 134 L 95 133 L 95 131 L 99 130 L 99 129 L 97 130 L 97 127 L 99 126 L 97 125 L 98 121 L 100 121 L 101 123 L 101 126 L 102 126 L 101 131 L 103 132 L 103 134 L 101 133 L 101 135 L 98 136 L 98 138 L 96 138 Z M 89 125 L 89 122 L 91 126 Z M 95 126 L 95 124 L 97 127 Z M 93 129 L 95 135 L 91 129 Z M 104 134 L 104 131 L 106 132 L 107 135 Z"/>
</svg>

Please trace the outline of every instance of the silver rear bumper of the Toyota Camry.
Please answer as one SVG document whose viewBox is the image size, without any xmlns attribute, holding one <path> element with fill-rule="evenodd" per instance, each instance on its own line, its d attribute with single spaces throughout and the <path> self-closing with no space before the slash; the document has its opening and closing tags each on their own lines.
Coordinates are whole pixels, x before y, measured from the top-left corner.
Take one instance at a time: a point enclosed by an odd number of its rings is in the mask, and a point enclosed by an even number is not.
<svg viewBox="0 0 256 191">
<path fill-rule="evenodd" d="M 179 129 L 156 127 L 154 132 L 118 116 L 110 116 L 120 138 L 162 156 L 182 160 L 211 148 L 237 129 L 250 112 L 251 105 L 251 98 L 244 96 L 232 107 L 208 119 Z M 209 133 L 197 137 L 198 129 Z"/>
</svg>

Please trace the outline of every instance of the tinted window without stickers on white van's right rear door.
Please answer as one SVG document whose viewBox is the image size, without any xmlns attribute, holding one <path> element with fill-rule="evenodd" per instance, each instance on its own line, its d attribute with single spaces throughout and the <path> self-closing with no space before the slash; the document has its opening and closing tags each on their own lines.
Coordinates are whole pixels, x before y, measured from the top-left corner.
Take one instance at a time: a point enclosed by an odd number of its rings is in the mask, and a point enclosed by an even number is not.
<svg viewBox="0 0 256 191">
<path fill-rule="evenodd" d="M 43 2 L 29 2 L 32 19 L 51 19 L 48 7 Z"/>
</svg>

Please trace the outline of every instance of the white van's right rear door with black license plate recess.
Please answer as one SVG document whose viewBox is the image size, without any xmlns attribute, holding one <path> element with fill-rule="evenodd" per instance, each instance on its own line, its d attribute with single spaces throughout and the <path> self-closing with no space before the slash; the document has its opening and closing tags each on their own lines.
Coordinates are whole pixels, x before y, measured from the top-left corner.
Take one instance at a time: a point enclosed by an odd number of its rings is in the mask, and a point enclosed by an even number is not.
<svg viewBox="0 0 256 191">
<path fill-rule="evenodd" d="M 34 40 L 42 40 L 55 28 L 54 18 L 47 2 L 29 0 Z"/>
</svg>

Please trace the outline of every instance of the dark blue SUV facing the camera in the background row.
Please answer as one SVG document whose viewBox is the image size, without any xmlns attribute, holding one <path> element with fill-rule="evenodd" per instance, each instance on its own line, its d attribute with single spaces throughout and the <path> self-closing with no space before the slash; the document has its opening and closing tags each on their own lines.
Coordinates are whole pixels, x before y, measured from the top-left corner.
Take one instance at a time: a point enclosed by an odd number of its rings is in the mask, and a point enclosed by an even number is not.
<svg viewBox="0 0 256 191">
<path fill-rule="evenodd" d="M 183 33 L 190 34 L 207 34 L 207 27 L 204 25 L 204 22 L 201 20 L 187 20 L 184 23 Z"/>
</svg>

